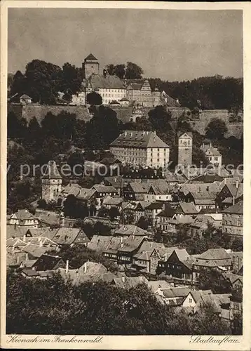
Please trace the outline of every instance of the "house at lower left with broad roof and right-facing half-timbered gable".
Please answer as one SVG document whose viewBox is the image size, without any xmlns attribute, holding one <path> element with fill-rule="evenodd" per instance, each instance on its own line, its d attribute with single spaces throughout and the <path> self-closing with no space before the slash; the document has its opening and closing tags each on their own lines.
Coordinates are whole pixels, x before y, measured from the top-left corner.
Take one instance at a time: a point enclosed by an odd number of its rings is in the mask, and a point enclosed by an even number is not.
<svg viewBox="0 0 251 351">
<path fill-rule="evenodd" d="M 90 241 L 85 232 L 81 228 L 61 227 L 55 233 L 53 241 L 60 246 L 81 244 L 88 246 Z"/>
</svg>

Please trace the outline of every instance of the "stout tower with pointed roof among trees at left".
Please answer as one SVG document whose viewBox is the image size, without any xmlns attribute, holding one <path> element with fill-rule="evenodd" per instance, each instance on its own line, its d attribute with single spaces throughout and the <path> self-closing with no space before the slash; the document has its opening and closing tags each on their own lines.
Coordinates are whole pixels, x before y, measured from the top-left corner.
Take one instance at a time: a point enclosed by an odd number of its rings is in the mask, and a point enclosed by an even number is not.
<svg viewBox="0 0 251 351">
<path fill-rule="evenodd" d="M 49 201 L 57 201 L 62 191 L 62 177 L 55 161 L 48 161 L 46 171 L 43 173 L 42 180 L 42 199 Z"/>
</svg>

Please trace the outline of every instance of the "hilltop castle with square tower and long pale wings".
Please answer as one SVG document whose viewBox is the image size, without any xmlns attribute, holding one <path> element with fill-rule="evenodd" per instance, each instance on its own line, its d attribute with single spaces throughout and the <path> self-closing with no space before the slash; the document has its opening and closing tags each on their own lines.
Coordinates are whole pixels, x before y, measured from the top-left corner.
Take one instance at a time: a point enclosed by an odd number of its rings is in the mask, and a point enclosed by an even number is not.
<svg viewBox="0 0 251 351">
<path fill-rule="evenodd" d="M 73 105 L 86 105 L 86 95 L 92 91 L 99 93 L 104 105 L 111 102 L 118 102 L 124 106 L 125 101 L 129 104 L 143 107 L 155 107 L 161 105 L 161 93 L 158 88 L 151 91 L 151 86 L 147 79 L 126 80 L 117 76 L 107 74 L 104 69 L 100 74 L 100 63 L 97 58 L 90 53 L 82 64 L 83 91 L 72 96 Z M 85 95 L 85 98 L 83 98 Z"/>
</svg>

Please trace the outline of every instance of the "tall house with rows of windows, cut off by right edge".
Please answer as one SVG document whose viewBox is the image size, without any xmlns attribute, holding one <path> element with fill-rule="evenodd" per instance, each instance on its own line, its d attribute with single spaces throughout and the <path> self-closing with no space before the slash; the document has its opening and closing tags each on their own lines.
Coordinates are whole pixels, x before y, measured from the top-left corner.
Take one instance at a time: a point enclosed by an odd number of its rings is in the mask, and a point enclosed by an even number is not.
<svg viewBox="0 0 251 351">
<path fill-rule="evenodd" d="M 243 201 L 222 211 L 222 232 L 243 237 Z"/>
</svg>

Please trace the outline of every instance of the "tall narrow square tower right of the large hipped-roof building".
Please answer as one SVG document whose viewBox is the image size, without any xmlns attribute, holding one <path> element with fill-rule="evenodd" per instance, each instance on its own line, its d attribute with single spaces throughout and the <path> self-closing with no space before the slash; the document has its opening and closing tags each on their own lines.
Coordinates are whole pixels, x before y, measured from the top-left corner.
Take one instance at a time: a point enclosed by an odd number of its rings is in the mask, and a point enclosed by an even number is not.
<svg viewBox="0 0 251 351">
<path fill-rule="evenodd" d="M 193 135 L 191 132 L 178 135 L 178 164 L 189 166 L 192 163 Z"/>
</svg>

